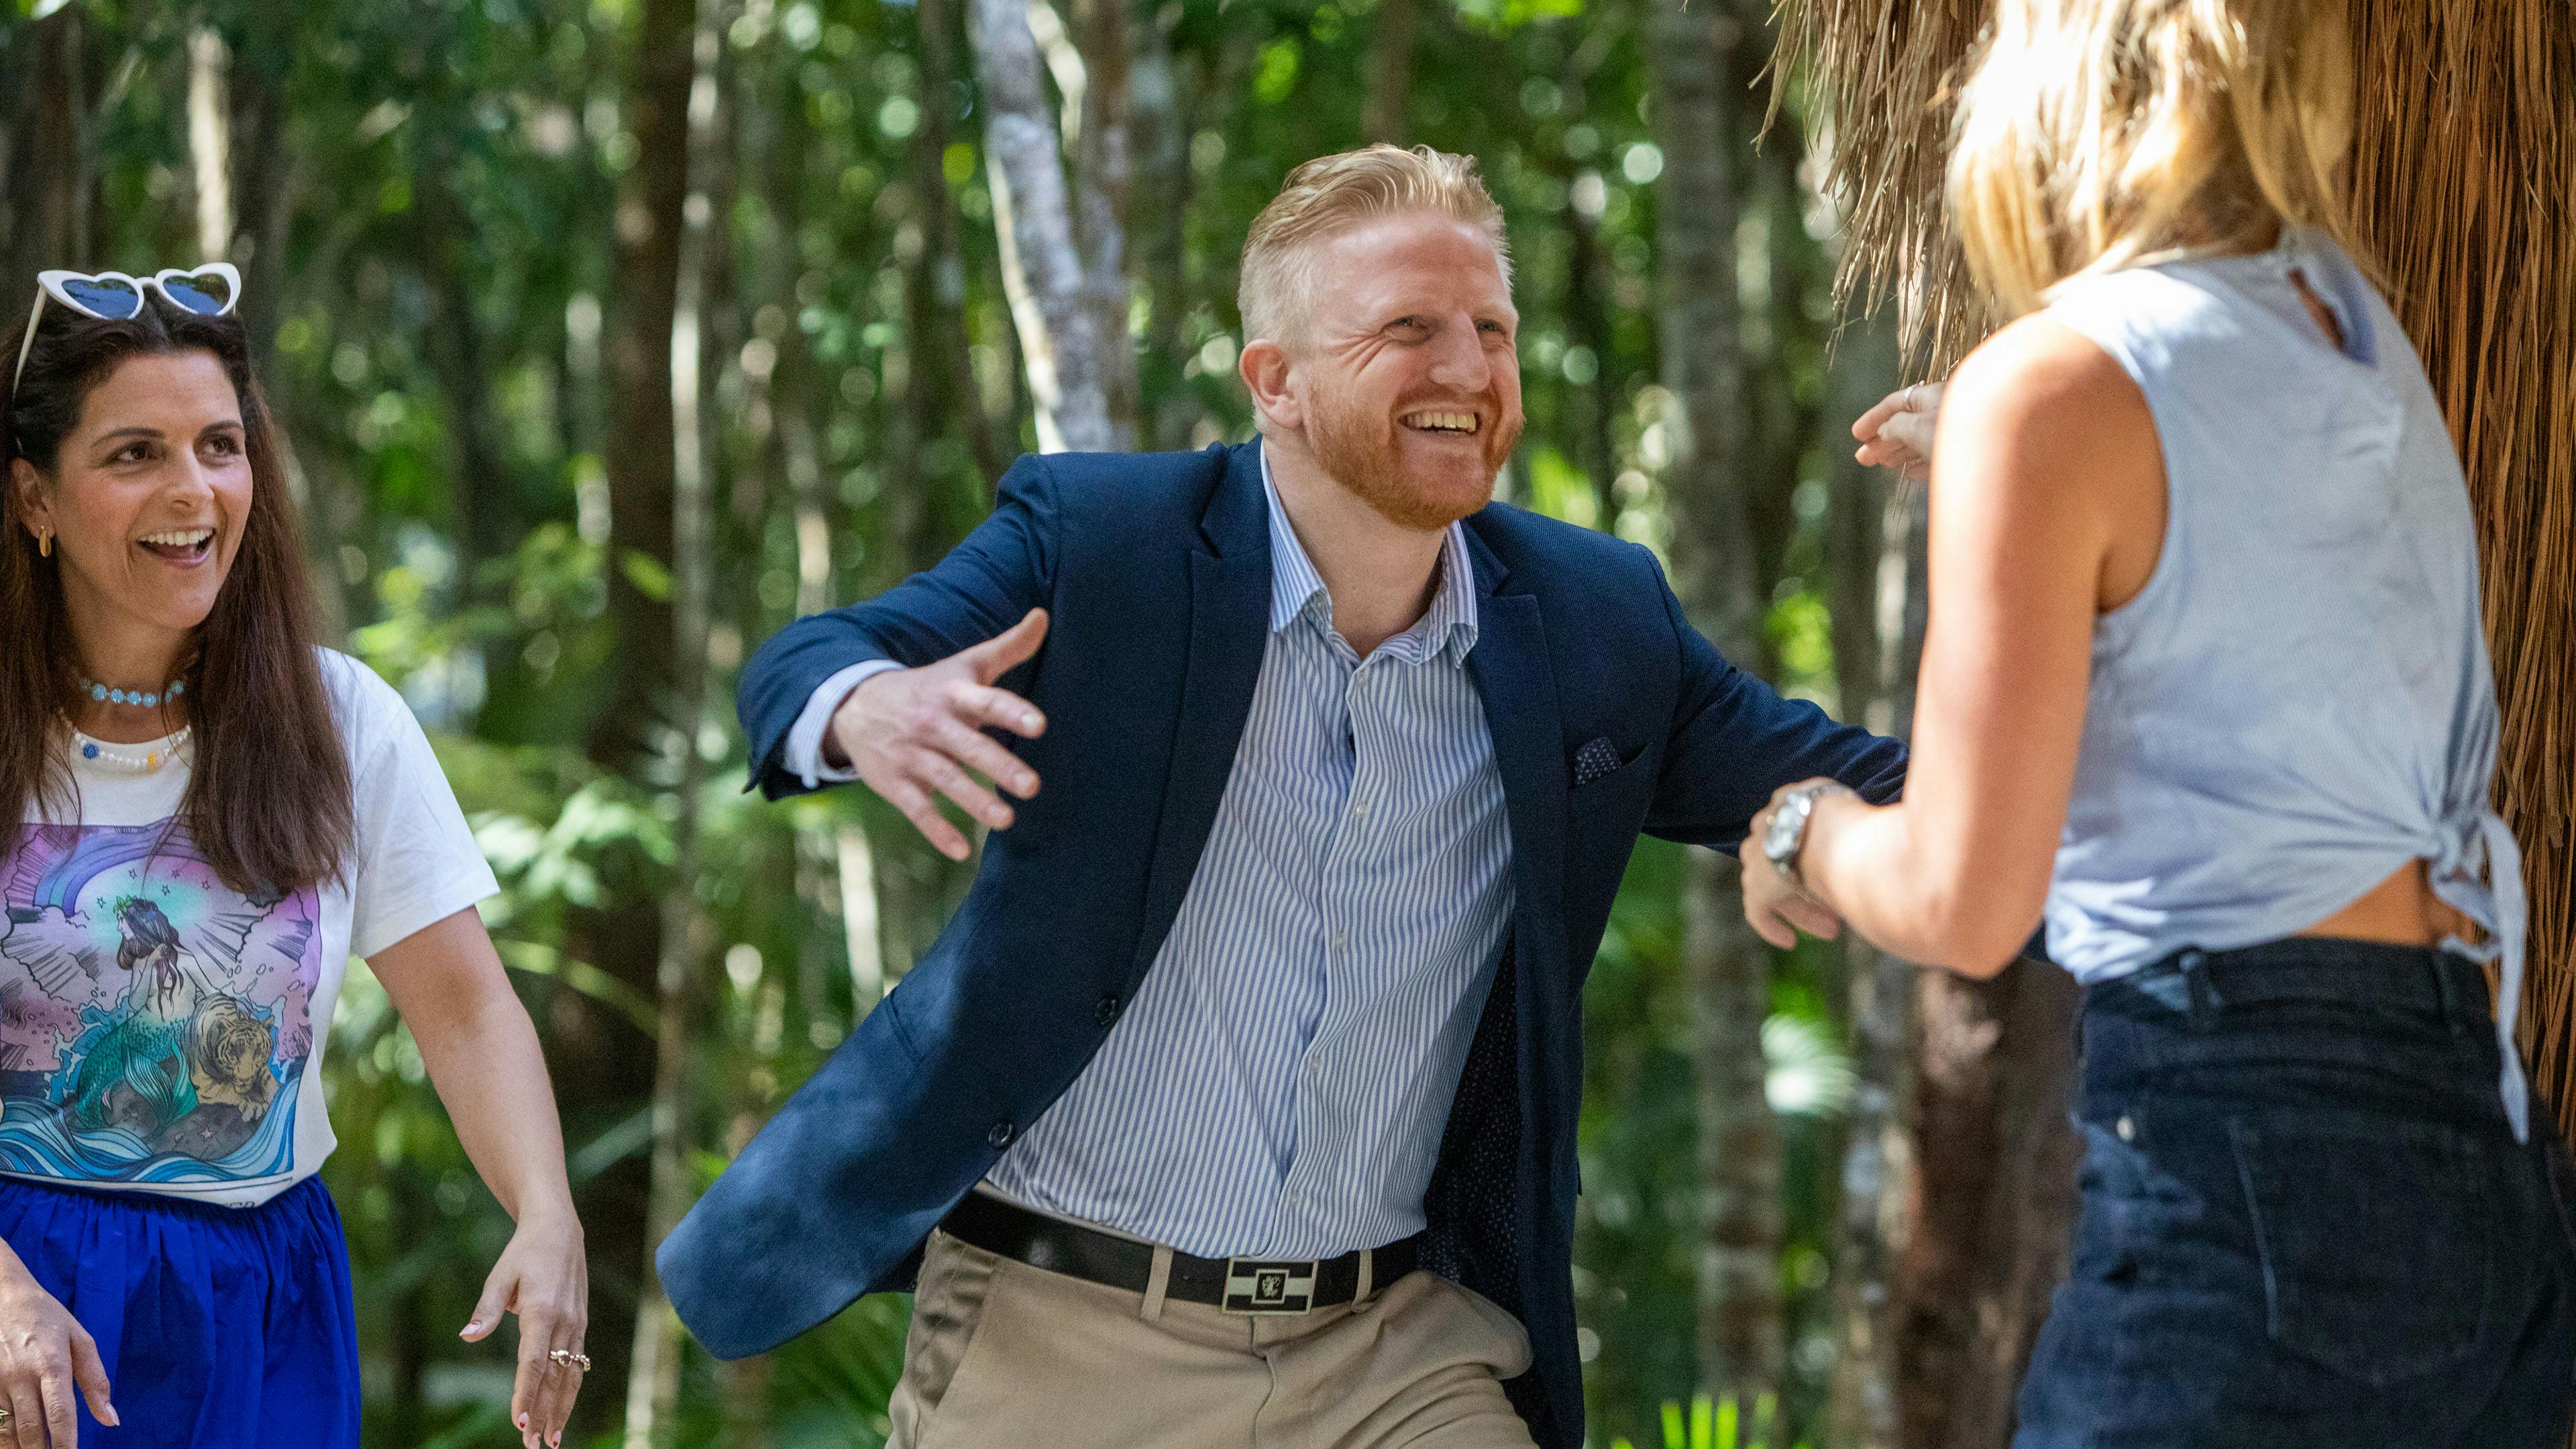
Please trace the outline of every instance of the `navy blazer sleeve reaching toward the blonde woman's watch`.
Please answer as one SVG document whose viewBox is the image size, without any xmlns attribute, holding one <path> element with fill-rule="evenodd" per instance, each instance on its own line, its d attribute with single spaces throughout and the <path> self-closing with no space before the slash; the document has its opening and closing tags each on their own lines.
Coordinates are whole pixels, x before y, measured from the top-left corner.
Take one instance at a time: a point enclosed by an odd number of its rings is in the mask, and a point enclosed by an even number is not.
<svg viewBox="0 0 2576 1449">
<path fill-rule="evenodd" d="M 1662 572 L 1656 588 L 1680 639 L 1682 688 L 1664 740 L 1664 773 L 1646 807 L 1649 835 L 1734 851 L 1772 792 L 1816 776 L 1839 779 L 1873 804 L 1904 794 L 1901 743 L 1837 724 L 1803 699 L 1783 699 L 1718 657 L 1682 616 Z"/>
</svg>

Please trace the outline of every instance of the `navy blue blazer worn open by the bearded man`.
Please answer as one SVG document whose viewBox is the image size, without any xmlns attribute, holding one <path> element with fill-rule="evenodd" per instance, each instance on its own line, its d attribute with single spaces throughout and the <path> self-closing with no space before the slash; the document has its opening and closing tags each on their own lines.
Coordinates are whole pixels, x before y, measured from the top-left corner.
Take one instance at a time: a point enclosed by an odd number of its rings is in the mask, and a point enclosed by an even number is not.
<svg viewBox="0 0 2576 1449">
<path fill-rule="evenodd" d="M 1636 544 L 1499 503 L 1466 534 L 1468 673 L 1494 730 L 1515 902 L 1425 1201 L 1427 1261 L 1520 1315 L 1535 1366 L 1507 1385 L 1512 1403 L 1543 1446 L 1574 1449 L 1577 993 L 1636 835 L 1734 848 L 1772 789 L 1806 776 L 1891 799 L 1904 748 L 1721 660 Z M 1002 686 L 1046 712 L 1046 735 L 1015 743 L 1043 789 L 987 838 L 938 944 L 659 1248 L 672 1305 L 721 1359 L 912 1287 L 930 1227 L 1136 995 L 1267 645 L 1257 446 L 1020 459 L 938 567 L 760 647 L 742 670 L 757 784 L 801 789 L 781 743 L 832 673 L 925 665 L 1036 606 L 1054 616 L 1046 647 Z M 1592 740 L 1620 766 L 1577 784 Z"/>
</svg>

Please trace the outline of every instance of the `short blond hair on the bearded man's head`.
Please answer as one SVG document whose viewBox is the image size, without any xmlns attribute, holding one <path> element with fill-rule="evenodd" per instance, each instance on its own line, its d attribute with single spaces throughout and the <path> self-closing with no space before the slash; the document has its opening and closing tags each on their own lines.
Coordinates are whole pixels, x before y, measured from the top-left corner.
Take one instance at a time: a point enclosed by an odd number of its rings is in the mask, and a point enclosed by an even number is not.
<svg viewBox="0 0 2576 1449">
<path fill-rule="evenodd" d="M 1355 152 L 1314 157 L 1288 173 L 1288 186 L 1262 206 L 1244 237 L 1244 268 L 1236 302 L 1244 312 L 1244 340 L 1303 338 L 1306 307 L 1314 299 L 1314 253 L 1378 217 L 1430 211 L 1484 232 L 1494 242 L 1502 284 L 1512 284 L 1512 253 L 1502 240 L 1502 206 L 1476 175 L 1476 157 L 1430 147 L 1373 144 Z"/>
</svg>

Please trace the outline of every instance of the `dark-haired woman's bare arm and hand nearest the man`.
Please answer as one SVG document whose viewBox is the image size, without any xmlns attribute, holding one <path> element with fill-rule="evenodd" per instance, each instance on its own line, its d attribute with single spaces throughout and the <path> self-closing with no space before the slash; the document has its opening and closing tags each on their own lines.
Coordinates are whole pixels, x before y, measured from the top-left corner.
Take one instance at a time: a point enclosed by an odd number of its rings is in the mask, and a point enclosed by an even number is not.
<svg viewBox="0 0 2576 1449">
<path fill-rule="evenodd" d="M 520 1441 L 559 1444 L 580 1392 L 577 1356 L 590 1328 L 590 1271 L 582 1222 L 564 1178 L 564 1127 L 536 1024 L 510 990 L 482 915 L 459 910 L 376 951 L 368 962 L 420 1042 L 456 1140 L 518 1232 L 484 1284 L 464 1338 L 484 1338 L 502 1312 L 518 1312 L 518 1390 L 510 1421 Z"/>
</svg>

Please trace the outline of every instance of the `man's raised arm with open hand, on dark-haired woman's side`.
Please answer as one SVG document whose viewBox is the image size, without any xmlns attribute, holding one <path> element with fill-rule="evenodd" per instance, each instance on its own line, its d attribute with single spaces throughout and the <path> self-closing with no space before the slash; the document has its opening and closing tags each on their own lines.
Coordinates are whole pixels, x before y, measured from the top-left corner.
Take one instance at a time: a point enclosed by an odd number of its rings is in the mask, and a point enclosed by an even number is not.
<svg viewBox="0 0 2576 1449">
<path fill-rule="evenodd" d="M 1043 608 L 1054 590 L 1054 477 L 1043 459 L 1020 459 L 1002 474 L 992 516 L 935 567 L 871 601 L 811 614 L 773 634 L 744 665 L 737 694 L 752 745 L 752 784 L 781 799 L 866 779 L 951 856 L 963 848 L 963 835 L 938 820 L 927 792 L 966 794 L 958 802 L 979 820 L 1007 822 L 1007 810 L 1005 820 L 994 820 L 989 807 L 997 802 L 981 786 L 938 766 L 963 763 L 1015 784 L 1007 750 L 981 730 L 1036 735 L 1043 727 L 1036 709 L 997 686 L 1043 639 L 1043 616 L 1030 621 L 1030 611 Z M 979 645 L 992 647 L 976 652 Z M 884 717 L 860 719 L 863 712 L 850 709 L 860 694 Z M 866 727 L 886 737 L 853 740 Z M 940 761 L 922 758 L 917 748 Z M 922 799 L 909 799 L 904 784 L 920 784 Z M 956 784 L 963 792 L 951 789 Z M 1028 784 L 1036 789 L 1033 779 Z"/>
</svg>

